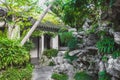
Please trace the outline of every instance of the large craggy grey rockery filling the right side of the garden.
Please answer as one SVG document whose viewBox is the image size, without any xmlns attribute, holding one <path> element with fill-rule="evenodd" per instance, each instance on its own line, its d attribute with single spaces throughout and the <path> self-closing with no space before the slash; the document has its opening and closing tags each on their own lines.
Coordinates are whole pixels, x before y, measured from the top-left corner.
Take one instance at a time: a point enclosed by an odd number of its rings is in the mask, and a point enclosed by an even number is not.
<svg viewBox="0 0 120 80">
<path fill-rule="evenodd" d="M 85 27 L 87 25 L 87 27 Z M 99 54 L 96 47 L 96 43 L 100 37 L 97 34 L 86 34 L 86 31 L 90 29 L 90 26 L 85 23 L 84 30 L 81 32 L 73 32 L 74 36 L 78 40 L 82 40 L 82 43 L 78 43 L 76 50 L 70 51 L 69 56 L 77 56 L 78 58 L 69 63 L 64 59 L 64 54 L 59 53 L 54 62 L 56 66 L 53 71 L 57 73 L 66 73 L 69 76 L 69 80 L 73 77 L 77 71 L 87 71 L 87 73 L 94 77 L 94 80 L 98 79 L 98 73 L 106 70 L 107 74 L 111 76 L 111 80 L 120 80 L 120 59 L 113 59 L 111 55 L 105 55 L 106 61 L 102 61 L 102 55 Z M 89 28 L 89 29 L 88 29 Z M 96 31 L 104 30 L 108 36 L 114 37 L 114 41 L 117 45 L 120 44 L 120 32 L 114 32 L 110 28 L 109 24 L 103 24 L 101 28 L 97 28 Z"/>
</svg>

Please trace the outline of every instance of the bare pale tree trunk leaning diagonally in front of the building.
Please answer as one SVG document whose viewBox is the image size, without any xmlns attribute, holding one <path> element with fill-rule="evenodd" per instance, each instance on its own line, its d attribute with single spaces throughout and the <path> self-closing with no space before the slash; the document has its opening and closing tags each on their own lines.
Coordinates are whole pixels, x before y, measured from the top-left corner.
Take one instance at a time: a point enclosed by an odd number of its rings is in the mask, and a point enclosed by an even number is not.
<svg viewBox="0 0 120 80">
<path fill-rule="evenodd" d="M 33 33 L 33 31 L 37 28 L 37 26 L 39 25 L 39 23 L 42 21 L 42 19 L 44 18 L 44 16 L 46 15 L 46 13 L 49 11 L 49 9 L 51 8 L 51 6 L 52 6 L 52 4 L 50 4 L 45 9 L 45 11 L 40 15 L 39 19 L 35 22 L 35 24 L 32 26 L 32 28 L 30 29 L 30 31 L 26 34 L 26 36 L 21 41 L 21 46 L 23 46 L 25 44 L 25 42 L 29 39 L 29 37 L 31 36 L 31 34 Z"/>
</svg>

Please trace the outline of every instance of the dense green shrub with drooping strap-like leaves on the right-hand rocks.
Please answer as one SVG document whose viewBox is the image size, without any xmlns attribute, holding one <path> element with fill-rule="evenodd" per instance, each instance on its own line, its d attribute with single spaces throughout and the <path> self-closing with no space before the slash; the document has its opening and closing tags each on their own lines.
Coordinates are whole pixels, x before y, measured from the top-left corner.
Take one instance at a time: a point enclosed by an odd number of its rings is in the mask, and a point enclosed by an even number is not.
<svg viewBox="0 0 120 80">
<path fill-rule="evenodd" d="M 112 54 L 113 58 L 117 58 L 120 56 L 119 46 L 116 46 L 114 39 L 110 37 L 103 38 L 102 40 L 97 42 L 97 48 L 99 52 L 103 54 Z"/>
</svg>

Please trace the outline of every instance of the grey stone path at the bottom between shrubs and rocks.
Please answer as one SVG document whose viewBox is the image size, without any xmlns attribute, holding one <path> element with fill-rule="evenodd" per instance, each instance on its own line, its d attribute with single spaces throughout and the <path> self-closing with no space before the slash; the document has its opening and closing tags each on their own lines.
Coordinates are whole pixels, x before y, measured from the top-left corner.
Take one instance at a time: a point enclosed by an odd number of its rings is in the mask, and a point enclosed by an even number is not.
<svg viewBox="0 0 120 80">
<path fill-rule="evenodd" d="M 49 80 L 52 74 L 53 67 L 45 66 L 40 67 L 35 65 L 35 69 L 32 73 L 32 80 Z"/>
</svg>

